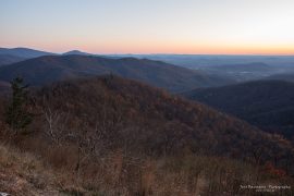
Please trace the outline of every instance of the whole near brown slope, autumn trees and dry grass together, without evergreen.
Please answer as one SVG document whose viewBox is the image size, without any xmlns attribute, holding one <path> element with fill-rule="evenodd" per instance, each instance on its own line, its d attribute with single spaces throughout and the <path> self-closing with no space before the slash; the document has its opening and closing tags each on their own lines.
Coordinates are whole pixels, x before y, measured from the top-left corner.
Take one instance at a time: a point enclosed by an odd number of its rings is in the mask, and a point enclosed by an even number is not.
<svg viewBox="0 0 294 196">
<path fill-rule="evenodd" d="M 1 102 L 5 111 L 9 101 Z M 261 195 L 265 189 L 242 185 L 293 187 L 289 140 L 136 82 L 105 76 L 57 83 L 33 90 L 26 111 L 34 120 L 17 134 L 0 115 L 0 191 Z M 20 177 L 23 186 L 15 189 L 11 182 Z"/>
</svg>

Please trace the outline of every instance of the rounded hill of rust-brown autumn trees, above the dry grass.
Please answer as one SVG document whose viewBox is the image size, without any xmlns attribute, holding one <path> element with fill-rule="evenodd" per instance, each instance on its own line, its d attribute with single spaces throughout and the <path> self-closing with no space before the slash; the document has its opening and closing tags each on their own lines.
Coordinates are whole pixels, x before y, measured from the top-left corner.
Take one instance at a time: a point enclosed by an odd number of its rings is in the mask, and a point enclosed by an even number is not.
<svg viewBox="0 0 294 196">
<path fill-rule="evenodd" d="M 122 148 L 151 156 L 183 150 L 254 161 L 290 156 L 290 144 L 279 136 L 120 77 L 57 83 L 32 96 L 35 130 L 56 143 L 79 140 L 93 150 Z"/>
</svg>

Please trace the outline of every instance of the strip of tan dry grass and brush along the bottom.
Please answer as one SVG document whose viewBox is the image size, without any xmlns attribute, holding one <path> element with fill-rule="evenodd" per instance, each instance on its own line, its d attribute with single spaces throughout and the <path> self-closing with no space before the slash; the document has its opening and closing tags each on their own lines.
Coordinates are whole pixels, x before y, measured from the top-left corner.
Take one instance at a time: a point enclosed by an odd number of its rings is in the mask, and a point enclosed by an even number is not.
<svg viewBox="0 0 294 196">
<path fill-rule="evenodd" d="M 0 192 L 24 196 L 254 195 L 255 193 L 241 192 L 240 185 L 253 184 L 257 175 L 260 175 L 253 166 L 226 158 L 136 158 L 126 156 L 122 150 L 103 157 L 89 157 L 76 171 L 74 151 L 71 150 L 73 148 L 60 151 L 51 149 L 47 156 L 44 154 L 41 159 L 38 159 L 36 152 L 28 154 L 0 145 Z M 61 162 L 53 162 L 54 157 L 62 156 Z M 45 162 L 48 162 L 48 166 Z M 279 181 L 260 177 L 258 183 Z"/>
</svg>

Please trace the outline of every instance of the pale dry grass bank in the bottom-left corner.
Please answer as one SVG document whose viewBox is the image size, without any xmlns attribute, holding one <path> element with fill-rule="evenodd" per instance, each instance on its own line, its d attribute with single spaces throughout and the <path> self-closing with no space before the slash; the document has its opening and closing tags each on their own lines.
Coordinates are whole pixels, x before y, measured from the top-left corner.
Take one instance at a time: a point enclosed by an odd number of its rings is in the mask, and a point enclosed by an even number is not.
<svg viewBox="0 0 294 196">
<path fill-rule="evenodd" d="M 59 195 L 57 177 L 33 155 L 0 145 L 0 191 L 12 195 Z"/>
</svg>

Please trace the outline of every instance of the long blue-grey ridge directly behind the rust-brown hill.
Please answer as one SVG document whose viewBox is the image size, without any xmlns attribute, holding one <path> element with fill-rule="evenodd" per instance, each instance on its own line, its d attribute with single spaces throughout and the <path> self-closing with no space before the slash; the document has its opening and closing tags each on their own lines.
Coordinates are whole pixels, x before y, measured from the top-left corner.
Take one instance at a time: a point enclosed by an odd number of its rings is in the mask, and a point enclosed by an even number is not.
<svg viewBox="0 0 294 196">
<path fill-rule="evenodd" d="M 162 87 L 184 91 L 195 87 L 220 86 L 233 81 L 147 59 L 108 59 L 89 56 L 46 56 L 0 68 L 0 81 L 21 75 L 32 85 L 112 73 Z"/>
</svg>

